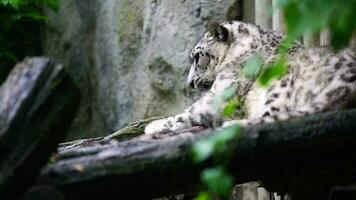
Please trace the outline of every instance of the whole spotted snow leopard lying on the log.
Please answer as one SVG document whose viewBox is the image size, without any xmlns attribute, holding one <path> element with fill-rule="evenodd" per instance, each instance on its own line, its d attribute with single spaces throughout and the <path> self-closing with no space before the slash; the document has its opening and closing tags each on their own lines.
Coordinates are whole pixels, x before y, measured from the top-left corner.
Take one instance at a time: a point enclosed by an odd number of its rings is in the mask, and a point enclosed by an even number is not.
<svg viewBox="0 0 356 200">
<path fill-rule="evenodd" d="M 212 22 L 189 54 L 187 83 L 203 95 L 184 112 L 151 122 L 146 134 L 167 133 L 193 126 L 219 127 L 271 123 L 314 113 L 345 109 L 356 90 L 356 47 L 339 52 L 328 47 L 304 48 L 295 42 L 287 53 L 287 71 L 267 87 L 242 73 L 258 55 L 263 68 L 275 62 L 285 36 L 239 21 Z M 257 77 L 257 76 L 256 76 Z M 226 88 L 242 100 L 245 114 L 227 121 L 214 102 Z"/>
</svg>

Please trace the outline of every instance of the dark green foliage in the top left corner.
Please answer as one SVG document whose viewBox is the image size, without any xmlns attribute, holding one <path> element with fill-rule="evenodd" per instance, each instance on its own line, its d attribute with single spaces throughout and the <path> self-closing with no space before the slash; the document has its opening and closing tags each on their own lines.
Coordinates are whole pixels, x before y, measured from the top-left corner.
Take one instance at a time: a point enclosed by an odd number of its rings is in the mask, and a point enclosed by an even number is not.
<svg viewBox="0 0 356 200">
<path fill-rule="evenodd" d="M 58 9 L 58 0 L 0 0 L 0 84 L 25 56 L 40 55 L 43 7 Z"/>
</svg>

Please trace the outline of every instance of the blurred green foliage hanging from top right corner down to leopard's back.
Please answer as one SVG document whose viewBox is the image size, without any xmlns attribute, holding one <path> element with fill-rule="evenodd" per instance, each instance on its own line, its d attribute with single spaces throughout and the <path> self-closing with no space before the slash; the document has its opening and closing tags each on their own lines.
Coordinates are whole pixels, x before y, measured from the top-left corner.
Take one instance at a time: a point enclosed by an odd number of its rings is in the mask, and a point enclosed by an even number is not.
<svg viewBox="0 0 356 200">
<path fill-rule="evenodd" d="M 286 72 L 285 54 L 303 35 L 320 34 L 329 29 L 331 47 L 338 51 L 346 47 L 356 33 L 356 0 L 279 0 L 277 6 L 284 13 L 287 37 L 279 49 L 280 58 L 261 73 L 258 81 L 262 86 Z"/>
</svg>

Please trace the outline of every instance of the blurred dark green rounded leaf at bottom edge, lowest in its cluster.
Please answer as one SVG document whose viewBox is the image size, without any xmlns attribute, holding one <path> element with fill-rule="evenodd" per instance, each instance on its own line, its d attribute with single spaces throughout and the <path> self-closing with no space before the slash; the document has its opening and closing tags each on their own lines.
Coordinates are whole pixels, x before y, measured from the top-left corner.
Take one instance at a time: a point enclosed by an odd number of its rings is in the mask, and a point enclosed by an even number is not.
<svg viewBox="0 0 356 200">
<path fill-rule="evenodd" d="M 201 174 L 201 180 L 210 191 L 221 198 L 230 196 L 234 184 L 232 176 L 222 167 L 205 169 Z"/>
</svg>

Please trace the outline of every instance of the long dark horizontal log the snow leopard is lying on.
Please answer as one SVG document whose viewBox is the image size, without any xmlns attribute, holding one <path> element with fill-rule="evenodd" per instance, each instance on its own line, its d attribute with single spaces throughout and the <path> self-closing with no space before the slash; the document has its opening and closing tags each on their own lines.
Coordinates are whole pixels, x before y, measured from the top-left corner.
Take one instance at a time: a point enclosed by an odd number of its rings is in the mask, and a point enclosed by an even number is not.
<svg viewBox="0 0 356 200">
<path fill-rule="evenodd" d="M 230 169 L 236 183 L 261 180 L 293 199 L 326 199 L 334 185 L 356 180 L 356 110 L 246 127 Z M 62 145 L 38 183 L 73 199 L 149 199 L 197 191 L 199 172 L 191 146 L 214 131 L 115 137 Z M 300 195 L 303 196 L 300 196 Z M 326 196 L 325 196 L 326 195 Z"/>
</svg>

